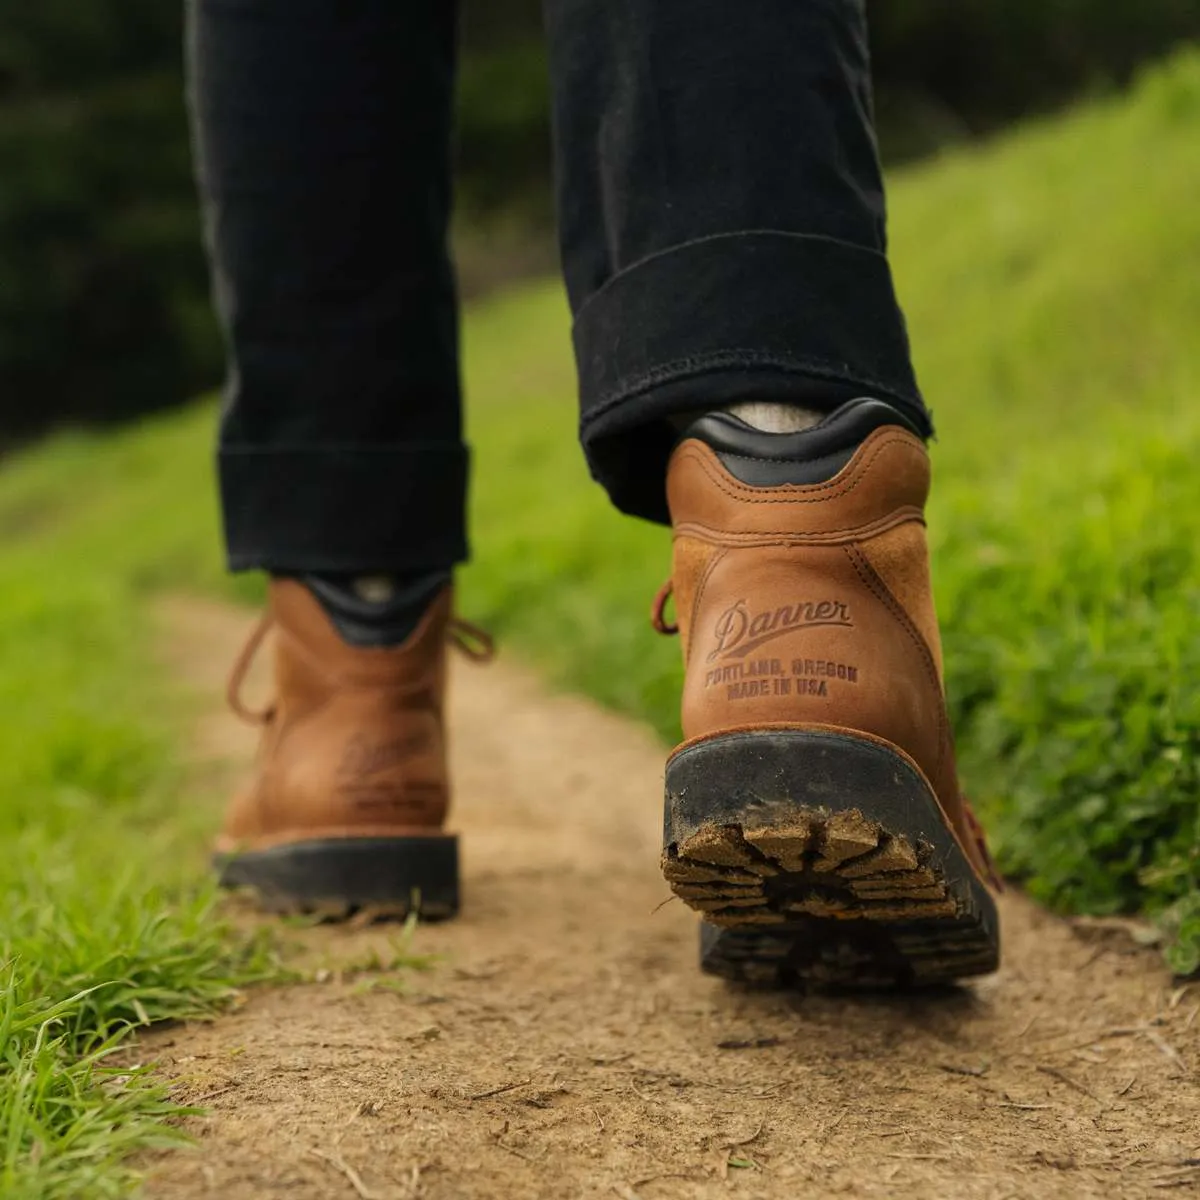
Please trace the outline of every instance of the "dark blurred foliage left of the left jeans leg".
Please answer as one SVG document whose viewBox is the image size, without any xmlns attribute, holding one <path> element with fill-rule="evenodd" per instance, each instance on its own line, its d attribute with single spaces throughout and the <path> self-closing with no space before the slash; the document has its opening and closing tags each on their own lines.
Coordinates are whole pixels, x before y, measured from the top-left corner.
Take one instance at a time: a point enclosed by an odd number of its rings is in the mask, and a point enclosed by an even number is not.
<svg viewBox="0 0 1200 1200">
<path fill-rule="evenodd" d="M 0 449 L 211 386 L 182 5 L 0 13 Z"/>
</svg>

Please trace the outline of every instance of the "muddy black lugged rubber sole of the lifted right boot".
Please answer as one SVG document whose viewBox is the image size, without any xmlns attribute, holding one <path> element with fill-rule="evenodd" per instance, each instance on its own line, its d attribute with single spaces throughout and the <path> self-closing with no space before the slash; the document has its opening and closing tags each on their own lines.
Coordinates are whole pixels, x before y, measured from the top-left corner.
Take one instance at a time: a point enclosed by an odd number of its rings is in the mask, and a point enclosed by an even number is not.
<svg viewBox="0 0 1200 1200">
<path fill-rule="evenodd" d="M 995 901 L 919 772 L 865 738 L 730 733 L 667 762 L 662 872 L 701 966 L 766 986 L 923 986 L 995 971 Z"/>
</svg>

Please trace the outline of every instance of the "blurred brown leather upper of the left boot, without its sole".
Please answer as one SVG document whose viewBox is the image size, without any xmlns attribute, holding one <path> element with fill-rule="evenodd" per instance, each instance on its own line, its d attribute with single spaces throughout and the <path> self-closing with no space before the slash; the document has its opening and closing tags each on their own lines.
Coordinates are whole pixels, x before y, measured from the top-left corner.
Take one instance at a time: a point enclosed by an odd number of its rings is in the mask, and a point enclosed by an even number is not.
<svg viewBox="0 0 1200 1200">
<path fill-rule="evenodd" d="M 443 700 L 452 596 L 382 649 L 342 641 L 304 584 L 275 580 L 275 702 L 217 848 L 437 833 L 449 803 Z"/>
</svg>

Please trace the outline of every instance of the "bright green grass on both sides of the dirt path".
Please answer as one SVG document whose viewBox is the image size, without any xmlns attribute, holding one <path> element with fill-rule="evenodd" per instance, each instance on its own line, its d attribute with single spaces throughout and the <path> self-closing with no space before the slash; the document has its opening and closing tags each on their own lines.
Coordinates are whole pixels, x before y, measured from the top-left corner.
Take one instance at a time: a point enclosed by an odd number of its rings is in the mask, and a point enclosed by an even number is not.
<svg viewBox="0 0 1200 1200">
<path fill-rule="evenodd" d="M 1200 55 L 894 181 L 894 260 L 941 443 L 931 512 L 964 774 L 1006 868 L 1145 912 L 1200 958 Z M 466 614 L 676 732 L 648 628 L 665 530 L 575 448 L 557 284 L 474 310 Z M 152 656 L 166 588 L 252 596 L 217 550 L 214 413 L 61 437 L 0 476 L 0 1194 L 120 1196 L 169 1100 L 109 1051 L 271 970 L 199 886 L 212 812 Z M 647 803 L 653 803 L 648 797 Z"/>
</svg>

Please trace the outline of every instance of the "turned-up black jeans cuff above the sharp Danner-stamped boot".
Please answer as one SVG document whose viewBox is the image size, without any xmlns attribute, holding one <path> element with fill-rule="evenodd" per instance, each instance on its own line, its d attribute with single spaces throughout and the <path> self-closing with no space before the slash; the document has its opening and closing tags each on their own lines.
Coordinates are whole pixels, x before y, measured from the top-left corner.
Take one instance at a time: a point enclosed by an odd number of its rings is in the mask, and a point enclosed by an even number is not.
<svg viewBox="0 0 1200 1200">
<path fill-rule="evenodd" d="M 850 242 L 775 230 L 686 242 L 610 280 L 574 337 L 592 473 L 617 508 L 652 521 L 667 520 L 664 418 L 728 403 L 733 377 L 756 400 L 850 388 L 932 434 L 887 259 Z"/>
</svg>

